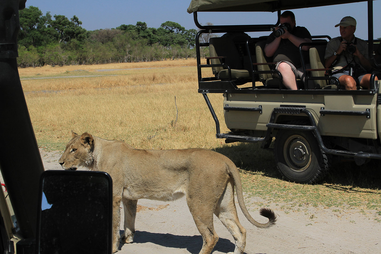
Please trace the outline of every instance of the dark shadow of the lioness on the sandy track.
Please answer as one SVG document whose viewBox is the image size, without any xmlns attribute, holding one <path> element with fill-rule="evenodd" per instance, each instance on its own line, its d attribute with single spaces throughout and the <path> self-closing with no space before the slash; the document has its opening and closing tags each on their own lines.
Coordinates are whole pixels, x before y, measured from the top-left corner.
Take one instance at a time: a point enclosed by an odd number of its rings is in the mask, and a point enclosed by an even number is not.
<svg viewBox="0 0 381 254">
<path fill-rule="evenodd" d="M 124 230 L 120 230 L 120 234 Z M 134 243 L 154 243 L 168 248 L 187 249 L 192 254 L 197 254 L 202 248 L 202 236 L 184 236 L 172 235 L 163 233 L 151 233 L 147 231 L 136 231 L 134 236 Z M 225 238 L 219 238 L 213 251 L 227 253 L 234 251 L 234 243 Z M 212 253 L 213 253 L 212 251 Z M 244 252 L 246 254 L 246 252 Z"/>
</svg>

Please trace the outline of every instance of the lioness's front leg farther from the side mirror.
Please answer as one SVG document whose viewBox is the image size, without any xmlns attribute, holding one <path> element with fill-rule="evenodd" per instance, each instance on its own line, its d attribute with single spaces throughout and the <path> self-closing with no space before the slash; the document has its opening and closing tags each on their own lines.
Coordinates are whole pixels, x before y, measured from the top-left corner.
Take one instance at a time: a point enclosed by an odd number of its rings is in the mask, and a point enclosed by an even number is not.
<svg viewBox="0 0 381 254">
<path fill-rule="evenodd" d="M 123 198 L 124 233 L 120 237 L 121 243 L 132 243 L 135 235 L 135 217 L 138 200 Z"/>
</svg>

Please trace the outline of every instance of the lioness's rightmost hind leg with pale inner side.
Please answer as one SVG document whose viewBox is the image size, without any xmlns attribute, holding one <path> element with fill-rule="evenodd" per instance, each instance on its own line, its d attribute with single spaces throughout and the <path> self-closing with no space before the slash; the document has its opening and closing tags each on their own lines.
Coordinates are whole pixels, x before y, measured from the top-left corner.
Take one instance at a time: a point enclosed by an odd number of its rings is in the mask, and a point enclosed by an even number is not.
<svg viewBox="0 0 381 254">
<path fill-rule="evenodd" d="M 215 215 L 234 238 L 234 254 L 242 254 L 246 246 L 246 229 L 238 220 L 237 209 L 234 204 L 234 182 L 232 180 L 227 182 L 225 191 L 217 203 Z"/>
</svg>

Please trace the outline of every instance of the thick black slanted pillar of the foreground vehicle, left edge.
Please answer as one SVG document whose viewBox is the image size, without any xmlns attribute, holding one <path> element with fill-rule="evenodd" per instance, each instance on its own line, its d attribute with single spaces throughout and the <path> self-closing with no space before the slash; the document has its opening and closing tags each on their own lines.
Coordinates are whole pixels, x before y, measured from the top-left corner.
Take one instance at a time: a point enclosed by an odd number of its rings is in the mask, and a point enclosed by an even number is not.
<svg viewBox="0 0 381 254">
<path fill-rule="evenodd" d="M 20 233 L 34 238 L 43 164 L 17 69 L 19 9 L 25 0 L 0 0 L 0 169 Z"/>
</svg>

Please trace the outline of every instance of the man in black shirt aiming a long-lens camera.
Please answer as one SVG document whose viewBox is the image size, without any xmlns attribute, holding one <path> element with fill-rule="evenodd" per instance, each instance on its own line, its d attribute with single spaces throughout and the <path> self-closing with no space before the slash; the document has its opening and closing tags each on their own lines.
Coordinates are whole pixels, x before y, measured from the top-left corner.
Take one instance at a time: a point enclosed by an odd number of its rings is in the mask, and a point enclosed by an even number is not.
<svg viewBox="0 0 381 254">
<path fill-rule="evenodd" d="M 304 79 L 299 54 L 299 45 L 303 42 L 312 42 L 311 34 L 306 27 L 296 26 L 295 15 L 292 11 L 284 11 L 280 15 L 280 26 L 269 35 L 264 53 L 273 57 L 277 62 L 277 69 L 282 74 L 285 87 L 297 90 L 296 78 Z M 304 59 L 308 59 L 309 46 L 303 46 Z"/>
</svg>

